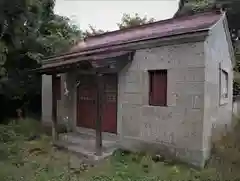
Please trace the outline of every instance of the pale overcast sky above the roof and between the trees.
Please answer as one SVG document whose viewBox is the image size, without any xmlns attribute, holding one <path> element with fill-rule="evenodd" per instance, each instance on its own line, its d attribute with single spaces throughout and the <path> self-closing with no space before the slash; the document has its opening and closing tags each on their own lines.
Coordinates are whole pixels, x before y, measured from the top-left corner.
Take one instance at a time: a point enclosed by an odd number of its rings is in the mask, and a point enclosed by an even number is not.
<svg viewBox="0 0 240 181">
<path fill-rule="evenodd" d="M 147 16 L 155 20 L 171 18 L 178 9 L 178 0 L 56 0 L 55 13 L 67 16 L 80 29 L 89 25 L 105 31 L 118 29 L 123 13 Z"/>
</svg>

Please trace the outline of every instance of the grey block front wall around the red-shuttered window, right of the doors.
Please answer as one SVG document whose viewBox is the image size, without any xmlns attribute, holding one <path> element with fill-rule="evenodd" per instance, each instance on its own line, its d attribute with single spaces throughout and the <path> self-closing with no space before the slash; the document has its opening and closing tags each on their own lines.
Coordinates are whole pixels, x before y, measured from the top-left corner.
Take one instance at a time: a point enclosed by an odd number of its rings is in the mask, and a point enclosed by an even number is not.
<svg viewBox="0 0 240 181">
<path fill-rule="evenodd" d="M 203 42 L 136 51 L 119 74 L 118 134 L 123 147 L 167 149 L 203 164 L 204 58 Z M 166 107 L 149 105 L 148 70 L 158 69 L 168 73 Z"/>
</svg>

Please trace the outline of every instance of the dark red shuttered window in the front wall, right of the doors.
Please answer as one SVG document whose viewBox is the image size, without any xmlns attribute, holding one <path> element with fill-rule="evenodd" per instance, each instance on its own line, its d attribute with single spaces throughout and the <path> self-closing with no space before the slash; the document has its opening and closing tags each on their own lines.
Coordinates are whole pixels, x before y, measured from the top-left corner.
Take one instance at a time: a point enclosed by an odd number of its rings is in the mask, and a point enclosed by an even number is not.
<svg viewBox="0 0 240 181">
<path fill-rule="evenodd" d="M 167 70 L 149 71 L 149 104 L 167 106 Z"/>
</svg>

